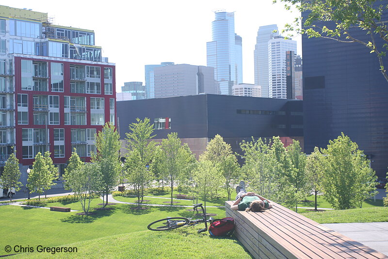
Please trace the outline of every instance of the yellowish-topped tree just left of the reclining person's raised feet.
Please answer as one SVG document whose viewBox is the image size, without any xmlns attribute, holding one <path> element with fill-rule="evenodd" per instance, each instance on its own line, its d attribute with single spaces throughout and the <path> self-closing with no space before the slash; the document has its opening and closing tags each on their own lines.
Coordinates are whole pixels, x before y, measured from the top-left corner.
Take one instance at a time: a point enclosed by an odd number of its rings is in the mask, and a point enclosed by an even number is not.
<svg viewBox="0 0 388 259">
<path fill-rule="evenodd" d="M 212 138 L 206 146 L 206 151 L 200 155 L 200 161 L 210 161 L 215 168 L 218 168 L 224 177 L 224 187 L 226 189 L 228 200 L 234 185 L 241 179 L 238 179 L 239 165 L 237 158 L 232 154 L 230 144 L 227 144 L 220 135 Z"/>
</svg>

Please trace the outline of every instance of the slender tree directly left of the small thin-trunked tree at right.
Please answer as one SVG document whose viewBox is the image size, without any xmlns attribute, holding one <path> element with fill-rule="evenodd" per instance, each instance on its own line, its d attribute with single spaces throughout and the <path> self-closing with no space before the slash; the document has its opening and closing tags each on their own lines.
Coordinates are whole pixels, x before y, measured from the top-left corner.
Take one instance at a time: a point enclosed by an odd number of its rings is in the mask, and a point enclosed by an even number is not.
<svg viewBox="0 0 388 259">
<path fill-rule="evenodd" d="M 305 173 L 306 154 L 302 152 L 302 148 L 298 140 L 293 140 L 291 145 L 286 148 L 287 156 L 291 160 L 291 164 L 295 168 L 294 177 L 291 178 L 291 183 L 295 188 L 296 203 L 295 211 L 298 212 L 298 201 L 301 200 L 305 194 L 310 192 L 307 185 L 307 177 Z"/>
</svg>

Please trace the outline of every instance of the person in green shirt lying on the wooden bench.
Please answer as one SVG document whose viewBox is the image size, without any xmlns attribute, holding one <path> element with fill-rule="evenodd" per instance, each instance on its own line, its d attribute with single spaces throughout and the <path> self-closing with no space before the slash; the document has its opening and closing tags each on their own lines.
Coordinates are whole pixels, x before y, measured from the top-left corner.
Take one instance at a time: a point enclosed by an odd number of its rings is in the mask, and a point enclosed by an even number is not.
<svg viewBox="0 0 388 259">
<path fill-rule="evenodd" d="M 272 208 L 272 204 L 269 200 L 254 192 L 246 192 L 244 181 L 241 181 L 240 185 L 236 187 L 236 192 L 236 200 L 233 205 L 230 206 L 230 209 L 258 212 L 263 209 Z"/>
</svg>

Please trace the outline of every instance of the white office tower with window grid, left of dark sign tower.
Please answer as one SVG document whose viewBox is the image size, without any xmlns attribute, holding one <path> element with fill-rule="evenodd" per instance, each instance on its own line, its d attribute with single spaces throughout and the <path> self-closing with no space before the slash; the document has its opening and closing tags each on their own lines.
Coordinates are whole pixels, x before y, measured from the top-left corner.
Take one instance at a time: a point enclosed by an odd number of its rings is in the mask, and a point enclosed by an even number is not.
<svg viewBox="0 0 388 259">
<path fill-rule="evenodd" d="M 270 98 L 287 98 L 286 52 L 288 51 L 296 53 L 296 41 L 284 39 L 282 36 L 275 36 L 268 41 Z"/>
</svg>

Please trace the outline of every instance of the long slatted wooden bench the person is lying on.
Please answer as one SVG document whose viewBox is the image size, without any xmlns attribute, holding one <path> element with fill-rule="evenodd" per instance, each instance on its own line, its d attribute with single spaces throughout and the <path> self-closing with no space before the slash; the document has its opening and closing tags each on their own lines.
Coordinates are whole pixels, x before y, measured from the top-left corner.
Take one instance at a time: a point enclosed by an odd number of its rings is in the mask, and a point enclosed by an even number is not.
<svg viewBox="0 0 388 259">
<path fill-rule="evenodd" d="M 231 210 L 232 204 L 225 203 L 226 217 L 235 219 L 234 234 L 254 258 L 388 259 L 278 204 L 273 203 L 273 208 L 263 212 Z"/>
</svg>

